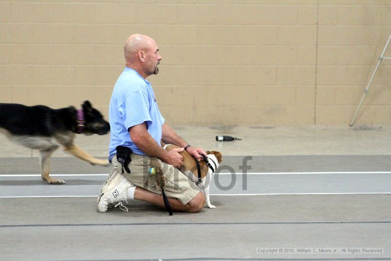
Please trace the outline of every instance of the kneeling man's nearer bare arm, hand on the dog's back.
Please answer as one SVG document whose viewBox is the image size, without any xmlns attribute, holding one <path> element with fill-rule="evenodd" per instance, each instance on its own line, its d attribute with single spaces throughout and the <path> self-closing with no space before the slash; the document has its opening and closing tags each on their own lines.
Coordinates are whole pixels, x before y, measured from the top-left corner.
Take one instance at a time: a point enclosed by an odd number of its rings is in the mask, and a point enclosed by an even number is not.
<svg viewBox="0 0 391 261">
<path fill-rule="evenodd" d="M 147 155 L 156 157 L 176 168 L 183 165 L 183 157 L 178 153 L 183 151 L 183 149 L 178 148 L 170 152 L 163 150 L 160 144 L 157 144 L 151 134 L 147 131 L 145 123 L 130 127 L 129 133 L 134 144 Z"/>
</svg>

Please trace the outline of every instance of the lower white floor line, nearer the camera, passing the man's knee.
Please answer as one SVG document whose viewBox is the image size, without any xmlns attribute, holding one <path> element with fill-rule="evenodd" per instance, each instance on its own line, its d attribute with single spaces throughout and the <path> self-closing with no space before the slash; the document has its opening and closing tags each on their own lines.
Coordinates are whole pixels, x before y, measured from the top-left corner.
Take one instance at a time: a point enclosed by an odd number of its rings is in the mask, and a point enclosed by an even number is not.
<svg viewBox="0 0 391 261">
<path fill-rule="evenodd" d="M 210 196 L 284 196 L 284 195 L 381 195 L 391 192 L 368 192 L 368 193 L 264 193 L 264 194 L 210 194 Z M 0 196 L 0 198 L 41 198 L 41 197 L 98 197 L 94 196 Z"/>
</svg>

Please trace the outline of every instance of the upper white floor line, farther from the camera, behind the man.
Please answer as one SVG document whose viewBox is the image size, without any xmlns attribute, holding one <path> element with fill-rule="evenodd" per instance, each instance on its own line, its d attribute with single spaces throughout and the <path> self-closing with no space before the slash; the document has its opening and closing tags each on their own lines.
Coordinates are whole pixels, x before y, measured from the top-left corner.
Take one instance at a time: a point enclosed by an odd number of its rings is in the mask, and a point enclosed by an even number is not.
<svg viewBox="0 0 391 261">
<path fill-rule="evenodd" d="M 222 172 L 219 175 L 242 175 L 242 172 Z M 286 175 L 286 174 L 391 174 L 391 171 L 344 171 L 344 172 L 249 172 L 247 175 Z M 50 176 L 107 176 L 109 174 L 50 174 Z M 41 174 L 0 174 L 0 177 L 39 177 Z"/>
</svg>

